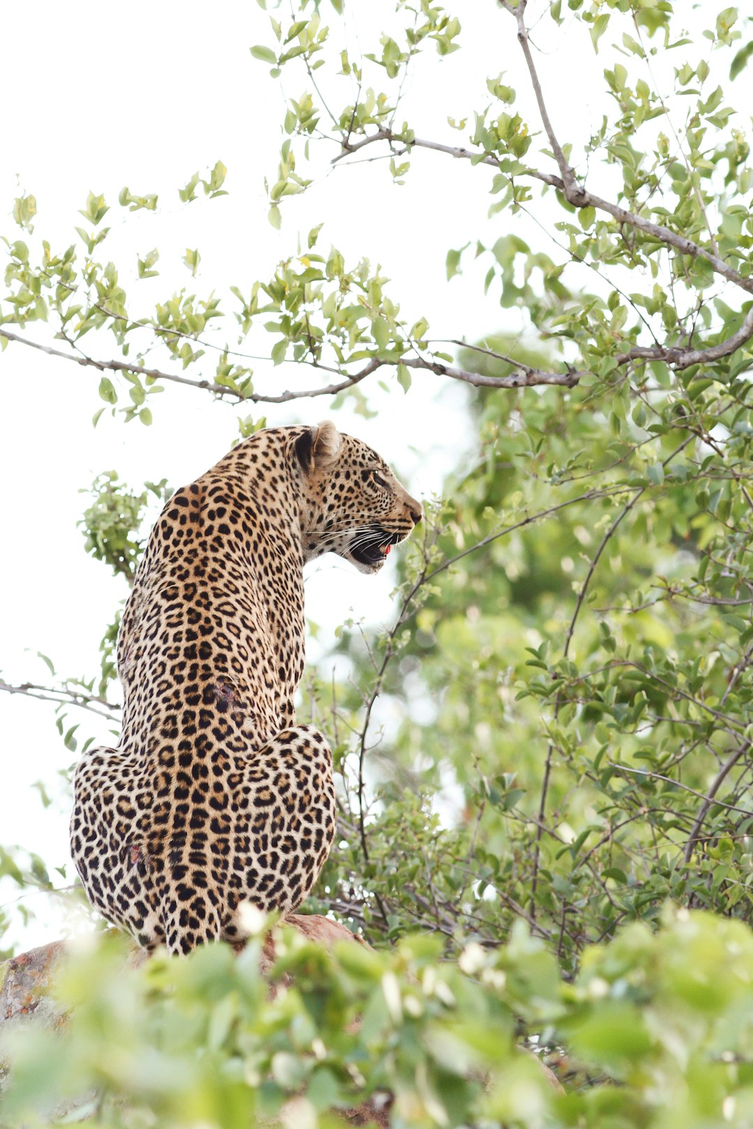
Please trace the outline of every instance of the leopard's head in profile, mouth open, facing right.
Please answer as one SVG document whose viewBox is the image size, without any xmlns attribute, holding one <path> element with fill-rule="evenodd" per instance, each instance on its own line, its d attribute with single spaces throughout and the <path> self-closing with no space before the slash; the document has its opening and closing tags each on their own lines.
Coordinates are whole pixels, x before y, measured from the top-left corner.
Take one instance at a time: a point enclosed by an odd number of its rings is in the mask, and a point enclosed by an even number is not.
<svg viewBox="0 0 753 1129">
<path fill-rule="evenodd" d="M 338 553 L 361 572 L 378 572 L 393 545 L 421 520 L 421 505 L 384 458 L 325 420 L 296 437 L 303 489 L 304 560 Z"/>
</svg>

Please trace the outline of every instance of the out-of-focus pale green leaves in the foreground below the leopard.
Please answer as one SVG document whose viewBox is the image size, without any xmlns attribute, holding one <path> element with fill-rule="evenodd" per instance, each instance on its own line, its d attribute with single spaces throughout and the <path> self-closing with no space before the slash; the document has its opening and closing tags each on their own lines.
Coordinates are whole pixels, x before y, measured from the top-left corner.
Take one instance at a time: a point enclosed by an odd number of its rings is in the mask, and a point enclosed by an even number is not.
<svg viewBox="0 0 753 1129">
<path fill-rule="evenodd" d="M 274 936 L 265 977 L 260 936 L 237 957 L 214 945 L 137 971 L 113 934 L 73 951 L 56 973 L 64 1035 L 5 1033 L 0 1126 L 326 1129 L 367 1123 L 354 1111 L 369 1099 L 395 1129 L 753 1124 L 753 938 L 738 921 L 633 924 L 587 948 L 573 981 L 525 928 L 457 962 L 427 935 L 332 955 Z M 544 1045 L 567 1094 L 536 1061 Z"/>
</svg>

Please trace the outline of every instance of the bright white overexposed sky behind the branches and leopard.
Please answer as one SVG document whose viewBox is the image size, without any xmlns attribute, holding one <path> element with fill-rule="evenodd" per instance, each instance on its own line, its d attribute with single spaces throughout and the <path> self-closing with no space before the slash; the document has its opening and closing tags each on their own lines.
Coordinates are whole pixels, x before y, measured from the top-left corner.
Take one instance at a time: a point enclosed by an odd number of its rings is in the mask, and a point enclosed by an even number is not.
<svg viewBox="0 0 753 1129">
<path fill-rule="evenodd" d="M 357 59 L 359 49 L 377 50 L 378 30 L 394 18 L 394 7 L 352 0 L 347 7 L 358 14 L 357 21 L 349 17 L 347 23 L 348 47 Z M 531 3 L 529 23 L 546 7 Z M 465 49 L 443 61 L 431 49 L 426 51 L 399 121 L 408 119 L 421 137 L 462 145 L 465 133 L 449 130 L 447 115 L 472 122 L 473 108 L 489 100 L 485 78 L 506 70 L 506 81 L 520 95 L 516 108 L 536 123 L 511 18 L 493 0 L 464 0 L 456 9 Z M 322 14 L 333 35 L 340 35 L 342 25 L 326 0 Z M 586 141 L 603 113 L 601 104 L 592 104 L 602 69 L 615 56 L 595 56 L 585 29 L 575 25 L 575 32 L 577 40 L 567 28 L 555 38 L 545 16 L 535 38 L 555 129 Z M 44 237 L 63 250 L 77 238 L 75 225 L 88 227 L 77 215 L 88 190 L 104 192 L 112 207 L 105 224 L 113 230 L 102 254 L 123 268 L 121 281 L 133 299 L 133 315 L 148 313 L 155 300 L 181 286 L 200 296 L 212 288 L 225 296 L 230 283 L 248 292 L 253 280 L 269 278 L 281 257 L 295 254 L 298 234 L 305 245 L 308 230 L 324 221 L 321 248 L 326 252 L 334 244 L 347 262 L 367 255 L 382 263 L 392 279 L 388 294 L 401 303 L 409 325 L 424 315 L 430 335 L 470 340 L 504 325 L 519 330 L 517 315 L 499 309 L 493 288 L 483 298 L 481 279 L 488 263 L 469 263 L 461 278 L 450 286 L 445 282 L 449 247 L 476 238 L 491 245 L 510 229 L 506 213 L 485 218 L 491 170 L 417 150 L 406 183 L 399 187 L 384 161 L 352 168 L 343 161 L 331 173 L 332 152 L 323 150 L 316 157 L 316 184 L 284 202 L 282 230 L 273 230 L 266 220 L 263 177 L 275 178 L 283 102 L 280 82 L 248 53 L 253 44 L 272 42 L 266 14 L 249 2 L 227 0 L 208 8 L 193 0 L 180 6 L 134 0 L 128 8 L 99 6 L 86 17 L 52 0 L 33 9 L 5 5 L 0 231 L 32 247 Z M 366 85 L 383 88 L 380 69 L 371 67 L 365 77 Z M 296 97 L 308 87 L 303 68 L 283 71 L 282 82 Z M 345 97 L 333 94 L 335 105 L 338 99 L 344 103 Z M 376 156 L 376 147 L 367 155 Z M 218 158 L 228 167 L 229 195 L 181 204 L 177 189 L 195 169 L 205 174 Z M 37 198 L 33 238 L 10 218 L 18 185 Z M 132 216 L 121 209 L 117 193 L 123 185 L 139 194 L 158 192 L 157 213 Z M 604 190 L 603 180 L 594 187 Z M 515 225 L 553 253 L 535 228 L 526 230 L 524 217 Z M 160 275 L 134 285 L 137 253 L 143 256 L 154 246 L 160 250 Z M 198 247 L 202 255 L 195 280 L 181 263 L 186 247 Z M 593 279 L 580 283 L 593 286 Z M 233 341 L 230 324 L 225 332 Z M 36 325 L 21 334 L 49 340 Z M 273 339 L 264 338 L 265 348 L 271 348 Z M 116 352 L 106 343 L 98 355 L 110 358 Z M 187 375 L 203 374 L 194 369 Z M 301 379 L 291 366 L 256 366 L 260 391 L 274 392 L 296 380 L 310 386 L 316 376 L 307 370 Z M 93 430 L 91 415 L 102 406 L 95 370 L 9 345 L 0 357 L 0 669 L 11 683 L 47 682 L 46 667 L 35 657 L 40 649 L 61 675 L 93 675 L 98 641 L 125 586 L 85 555 L 76 522 L 86 499 L 78 490 L 111 469 L 134 487 L 163 476 L 173 487 L 191 481 L 229 447 L 237 436 L 236 419 L 248 409 L 168 386 L 155 397 L 151 428 L 124 426 L 105 414 Z M 343 411 L 336 421 L 379 449 L 411 491 L 424 496 L 440 488 L 445 471 L 470 449 L 463 403 L 459 386 L 417 373 L 408 397 L 396 386 L 388 396 L 375 395 L 375 419 L 354 419 Z M 327 413 L 327 403 L 299 401 L 251 410 L 266 414 L 270 425 L 283 425 L 316 421 Z M 389 621 L 392 583 L 387 569 L 375 580 L 330 558 L 307 581 L 307 613 L 330 628 L 351 607 L 370 621 Z M 98 739 L 106 739 L 106 725 L 97 730 L 91 715 L 71 710 L 69 716 L 69 724 L 81 723 L 81 734 L 98 733 Z M 71 760 L 54 730 L 53 707 L 0 694 L 0 842 L 35 849 L 50 866 L 68 864 L 68 798 L 59 794 L 53 807 L 43 811 L 29 787 L 43 779 L 54 790 L 58 769 Z M 0 893 L 16 896 L 12 887 L 2 886 Z M 44 896 L 29 900 L 40 920 L 23 935 L 24 944 L 56 935 L 60 926 L 46 902 Z"/>
</svg>

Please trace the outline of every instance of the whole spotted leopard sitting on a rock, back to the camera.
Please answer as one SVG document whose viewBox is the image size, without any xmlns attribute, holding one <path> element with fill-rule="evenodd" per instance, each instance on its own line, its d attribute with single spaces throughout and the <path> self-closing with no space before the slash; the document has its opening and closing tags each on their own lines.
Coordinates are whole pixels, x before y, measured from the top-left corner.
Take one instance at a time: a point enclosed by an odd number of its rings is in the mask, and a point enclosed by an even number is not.
<svg viewBox="0 0 753 1129">
<path fill-rule="evenodd" d="M 245 907 L 312 892 L 336 797 L 326 737 L 296 724 L 304 566 L 377 574 L 421 518 L 331 420 L 256 431 L 165 505 L 117 639 L 120 742 L 79 760 L 70 821 L 89 902 L 140 946 L 242 945 Z"/>
</svg>

